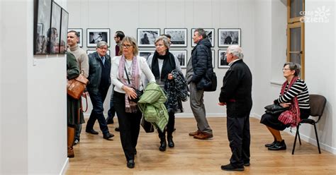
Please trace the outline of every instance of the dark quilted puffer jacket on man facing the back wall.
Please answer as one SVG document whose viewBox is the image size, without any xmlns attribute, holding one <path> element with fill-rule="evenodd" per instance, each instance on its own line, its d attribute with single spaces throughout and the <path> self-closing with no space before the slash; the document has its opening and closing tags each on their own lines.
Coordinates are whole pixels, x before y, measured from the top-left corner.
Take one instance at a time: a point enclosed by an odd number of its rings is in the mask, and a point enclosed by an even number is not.
<svg viewBox="0 0 336 175">
<path fill-rule="evenodd" d="M 213 73 L 211 42 L 208 38 L 196 44 L 196 47 L 191 51 L 191 60 L 194 72 L 191 82 L 196 84 L 198 90 L 203 90 L 204 87 L 211 85 Z"/>
</svg>

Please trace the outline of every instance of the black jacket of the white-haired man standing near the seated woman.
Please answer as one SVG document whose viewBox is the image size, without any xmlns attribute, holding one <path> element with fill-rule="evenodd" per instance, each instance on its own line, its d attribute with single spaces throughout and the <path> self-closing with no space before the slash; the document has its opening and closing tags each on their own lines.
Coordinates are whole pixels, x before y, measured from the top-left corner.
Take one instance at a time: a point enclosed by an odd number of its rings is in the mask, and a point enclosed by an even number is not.
<svg viewBox="0 0 336 175">
<path fill-rule="evenodd" d="M 227 104 L 227 115 L 241 117 L 250 115 L 252 108 L 252 73 L 242 61 L 235 61 L 223 78 L 219 102 Z"/>
</svg>

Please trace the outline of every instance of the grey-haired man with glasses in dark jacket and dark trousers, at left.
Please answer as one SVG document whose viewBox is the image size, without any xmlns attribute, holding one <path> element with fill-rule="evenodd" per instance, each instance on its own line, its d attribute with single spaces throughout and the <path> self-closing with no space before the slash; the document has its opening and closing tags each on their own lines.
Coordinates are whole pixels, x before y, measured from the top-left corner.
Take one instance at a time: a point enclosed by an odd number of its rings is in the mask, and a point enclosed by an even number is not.
<svg viewBox="0 0 336 175">
<path fill-rule="evenodd" d="M 86 133 L 98 134 L 94 131 L 94 123 L 98 120 L 103 138 L 109 140 L 114 135 L 108 131 L 105 117 L 103 116 L 103 102 L 106 98 L 108 87 L 111 85 L 111 57 L 106 54 L 108 44 L 98 42 L 96 52 L 89 54 L 89 85 L 87 90 L 92 102 L 92 111 L 86 124 Z"/>
</svg>

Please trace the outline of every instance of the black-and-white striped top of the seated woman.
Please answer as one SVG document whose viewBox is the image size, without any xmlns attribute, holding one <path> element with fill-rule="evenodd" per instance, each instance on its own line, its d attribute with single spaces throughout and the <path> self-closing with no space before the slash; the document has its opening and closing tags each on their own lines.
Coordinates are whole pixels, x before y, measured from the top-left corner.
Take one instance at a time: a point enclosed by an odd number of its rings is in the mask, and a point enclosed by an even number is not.
<svg viewBox="0 0 336 175">
<path fill-rule="evenodd" d="M 289 90 L 287 90 L 289 87 L 289 83 L 287 83 L 284 95 L 281 96 L 279 99 L 276 99 L 278 103 L 287 103 L 291 102 L 291 99 L 294 97 L 298 97 L 298 107 L 301 109 L 310 109 L 309 105 L 309 94 L 308 94 L 308 88 L 306 83 L 298 78 L 295 83 L 291 86 Z"/>
</svg>

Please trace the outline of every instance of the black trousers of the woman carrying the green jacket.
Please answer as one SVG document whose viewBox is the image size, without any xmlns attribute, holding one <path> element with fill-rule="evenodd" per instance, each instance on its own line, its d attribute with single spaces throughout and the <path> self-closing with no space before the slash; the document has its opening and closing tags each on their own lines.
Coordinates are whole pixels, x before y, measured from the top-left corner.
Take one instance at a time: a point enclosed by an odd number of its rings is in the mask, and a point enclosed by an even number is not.
<svg viewBox="0 0 336 175">
<path fill-rule="evenodd" d="M 118 116 L 123 152 L 127 160 L 134 159 L 142 113 L 140 109 L 136 113 L 125 112 L 125 94 L 116 91 L 113 92 L 113 105 Z"/>
</svg>

